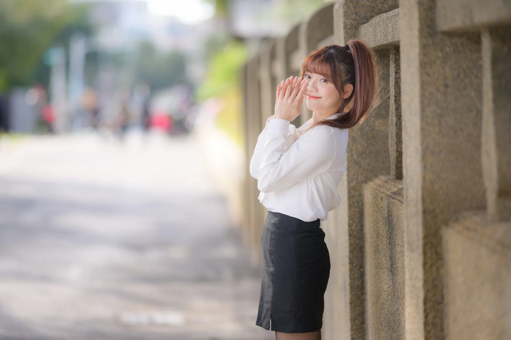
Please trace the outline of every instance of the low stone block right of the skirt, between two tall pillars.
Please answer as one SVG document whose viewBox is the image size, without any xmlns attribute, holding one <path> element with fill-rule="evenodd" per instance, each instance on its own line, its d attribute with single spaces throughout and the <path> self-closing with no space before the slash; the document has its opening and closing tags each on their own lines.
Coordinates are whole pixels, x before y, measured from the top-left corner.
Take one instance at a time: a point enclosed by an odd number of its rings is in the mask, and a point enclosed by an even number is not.
<svg viewBox="0 0 511 340">
<path fill-rule="evenodd" d="M 403 181 L 377 177 L 364 187 L 368 339 L 404 339 Z"/>
</svg>

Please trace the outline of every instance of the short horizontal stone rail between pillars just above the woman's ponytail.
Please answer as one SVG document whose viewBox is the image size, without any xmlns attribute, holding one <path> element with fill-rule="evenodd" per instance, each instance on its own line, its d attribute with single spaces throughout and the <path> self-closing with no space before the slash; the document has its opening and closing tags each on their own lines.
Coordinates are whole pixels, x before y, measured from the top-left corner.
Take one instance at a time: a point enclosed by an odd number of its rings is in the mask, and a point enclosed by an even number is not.
<svg viewBox="0 0 511 340">
<path fill-rule="evenodd" d="M 399 8 L 375 16 L 360 26 L 359 38 L 370 47 L 399 45 Z"/>
</svg>

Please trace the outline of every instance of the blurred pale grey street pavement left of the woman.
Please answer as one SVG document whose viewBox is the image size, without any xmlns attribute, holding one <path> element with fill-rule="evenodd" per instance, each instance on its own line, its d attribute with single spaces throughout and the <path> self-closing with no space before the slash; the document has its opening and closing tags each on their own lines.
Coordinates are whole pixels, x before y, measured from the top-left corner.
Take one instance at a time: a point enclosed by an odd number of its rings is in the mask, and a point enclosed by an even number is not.
<svg viewBox="0 0 511 340">
<path fill-rule="evenodd" d="M 192 137 L 0 144 L 0 338 L 274 338 Z"/>
</svg>

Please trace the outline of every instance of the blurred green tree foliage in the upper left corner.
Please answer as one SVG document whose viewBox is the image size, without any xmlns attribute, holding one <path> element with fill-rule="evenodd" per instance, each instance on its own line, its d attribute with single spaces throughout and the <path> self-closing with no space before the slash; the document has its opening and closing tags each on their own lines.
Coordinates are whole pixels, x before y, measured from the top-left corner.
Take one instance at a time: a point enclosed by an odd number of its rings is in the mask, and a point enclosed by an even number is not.
<svg viewBox="0 0 511 340">
<path fill-rule="evenodd" d="M 0 92 L 33 81 L 44 51 L 74 14 L 67 0 L 0 1 Z"/>
</svg>

